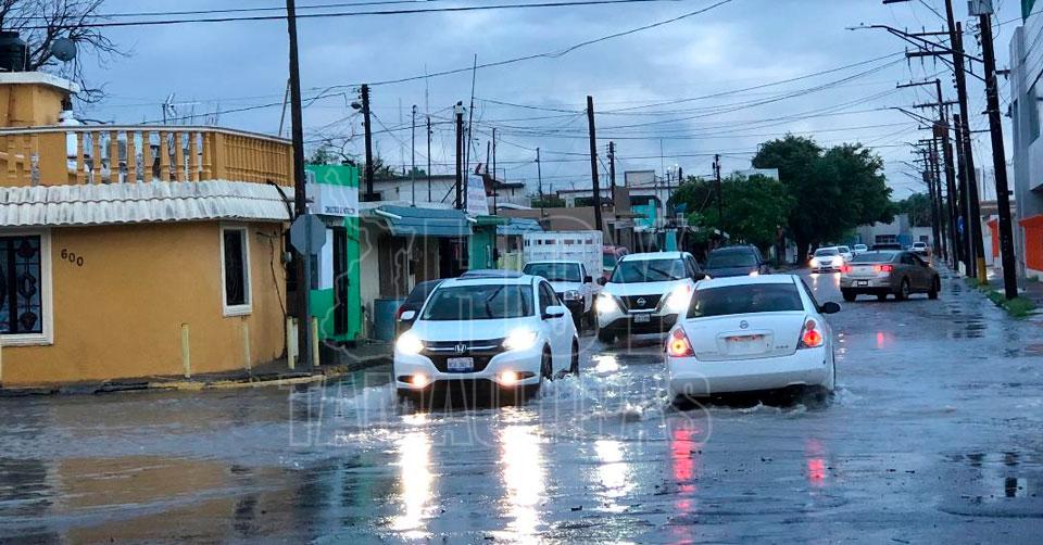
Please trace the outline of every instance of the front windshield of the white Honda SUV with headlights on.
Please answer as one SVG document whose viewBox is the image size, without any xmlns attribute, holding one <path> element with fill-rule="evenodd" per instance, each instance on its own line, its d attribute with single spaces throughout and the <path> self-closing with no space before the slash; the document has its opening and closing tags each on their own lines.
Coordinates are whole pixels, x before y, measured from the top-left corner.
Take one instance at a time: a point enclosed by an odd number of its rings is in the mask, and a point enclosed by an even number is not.
<svg viewBox="0 0 1043 545">
<path fill-rule="evenodd" d="M 518 284 L 476 284 L 440 288 L 431 294 L 420 319 L 429 321 L 497 320 L 532 315 L 532 288 Z"/>
</svg>

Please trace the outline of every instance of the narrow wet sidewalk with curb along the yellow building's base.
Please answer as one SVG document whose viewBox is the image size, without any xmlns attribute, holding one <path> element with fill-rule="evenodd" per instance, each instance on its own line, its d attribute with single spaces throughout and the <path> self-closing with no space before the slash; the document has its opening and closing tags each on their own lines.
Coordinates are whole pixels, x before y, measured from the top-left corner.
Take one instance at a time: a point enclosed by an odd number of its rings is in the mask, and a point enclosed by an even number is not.
<svg viewBox="0 0 1043 545">
<path fill-rule="evenodd" d="M 42 386 L 0 386 L 0 397 L 58 394 L 103 394 L 147 390 L 227 390 L 237 388 L 285 386 L 322 382 L 328 379 L 391 362 L 391 344 L 362 341 L 352 348 L 319 347 L 323 365 L 312 369 L 298 362 L 294 369 L 286 359 L 277 359 L 251 369 L 184 376 L 112 379 L 100 382 L 79 382 Z"/>
</svg>

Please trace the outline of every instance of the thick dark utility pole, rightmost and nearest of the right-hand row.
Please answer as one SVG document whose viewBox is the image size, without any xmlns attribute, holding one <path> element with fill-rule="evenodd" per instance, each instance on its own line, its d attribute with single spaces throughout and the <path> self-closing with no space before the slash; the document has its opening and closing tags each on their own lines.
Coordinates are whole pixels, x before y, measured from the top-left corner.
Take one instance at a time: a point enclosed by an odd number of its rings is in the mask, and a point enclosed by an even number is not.
<svg viewBox="0 0 1043 545">
<path fill-rule="evenodd" d="M 989 129 L 992 135 L 992 168 L 994 170 L 993 176 L 996 178 L 996 205 L 1000 206 L 1000 257 L 1003 266 L 1003 292 L 1010 300 L 1018 296 L 1018 278 L 1015 270 L 1010 197 L 1007 188 L 1007 161 L 1003 145 L 1003 125 L 1000 118 L 1000 85 L 996 81 L 996 56 L 993 50 L 991 9 L 979 13 L 978 21 L 981 30 L 981 56 L 985 61 L 985 104 L 989 113 Z M 983 255 L 979 255 L 978 259 L 979 263 L 984 264 Z M 981 281 L 984 283 L 987 280 L 982 278 Z"/>
</svg>

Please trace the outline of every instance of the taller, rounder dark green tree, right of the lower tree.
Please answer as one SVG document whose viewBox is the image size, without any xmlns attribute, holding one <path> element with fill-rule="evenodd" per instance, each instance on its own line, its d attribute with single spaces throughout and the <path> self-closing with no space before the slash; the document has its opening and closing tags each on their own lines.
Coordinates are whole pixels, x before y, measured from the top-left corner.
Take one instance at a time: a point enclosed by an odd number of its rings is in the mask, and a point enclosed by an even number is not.
<svg viewBox="0 0 1043 545">
<path fill-rule="evenodd" d="M 883 160 L 862 144 L 824 150 L 809 138 L 789 135 L 762 144 L 753 166 L 779 169 L 793 199 L 788 225 L 799 254 L 813 243 L 840 240 L 859 225 L 894 218 Z"/>
</svg>

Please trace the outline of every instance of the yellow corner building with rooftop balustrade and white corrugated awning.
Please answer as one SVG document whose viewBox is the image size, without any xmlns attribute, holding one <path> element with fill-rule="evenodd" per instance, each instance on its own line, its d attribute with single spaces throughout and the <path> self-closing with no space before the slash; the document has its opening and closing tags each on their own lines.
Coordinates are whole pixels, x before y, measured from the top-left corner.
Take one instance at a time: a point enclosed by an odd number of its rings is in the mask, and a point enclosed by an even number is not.
<svg viewBox="0 0 1043 545">
<path fill-rule="evenodd" d="M 86 126 L 0 74 L 0 385 L 243 369 L 285 353 L 286 140 Z"/>
</svg>

